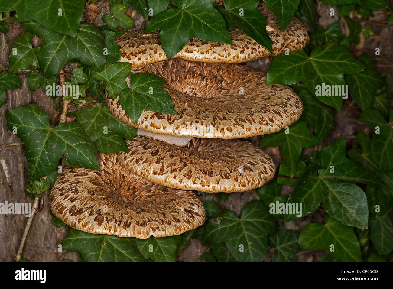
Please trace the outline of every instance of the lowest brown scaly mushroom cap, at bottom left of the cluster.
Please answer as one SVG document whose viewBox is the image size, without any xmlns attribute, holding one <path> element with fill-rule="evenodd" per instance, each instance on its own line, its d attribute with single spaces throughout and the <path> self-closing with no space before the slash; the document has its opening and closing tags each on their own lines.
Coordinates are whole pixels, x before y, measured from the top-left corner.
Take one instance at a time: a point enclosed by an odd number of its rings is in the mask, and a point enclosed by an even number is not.
<svg viewBox="0 0 393 289">
<path fill-rule="evenodd" d="M 202 225 L 206 213 L 193 191 L 134 175 L 117 154 L 100 154 L 101 171 L 65 168 L 50 193 L 53 214 L 74 229 L 141 239 L 182 234 Z"/>
</svg>

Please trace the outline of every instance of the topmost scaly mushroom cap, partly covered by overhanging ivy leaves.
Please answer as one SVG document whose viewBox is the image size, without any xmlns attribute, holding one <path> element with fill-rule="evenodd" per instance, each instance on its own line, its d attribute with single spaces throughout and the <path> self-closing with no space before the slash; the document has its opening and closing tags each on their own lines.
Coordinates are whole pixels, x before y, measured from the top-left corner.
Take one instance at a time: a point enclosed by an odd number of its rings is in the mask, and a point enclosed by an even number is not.
<svg viewBox="0 0 393 289">
<path fill-rule="evenodd" d="M 289 52 L 295 52 L 307 46 L 309 35 L 298 18 L 293 17 L 285 31 L 281 31 L 274 14 L 263 2 L 258 5 L 258 10 L 266 18 L 266 31 L 273 41 L 272 52 L 237 28 L 230 31 L 232 45 L 191 37 L 174 57 L 191 61 L 238 63 L 266 56 L 277 56 L 284 53 L 285 48 L 288 48 Z M 167 59 L 161 46 L 160 31 L 127 32 L 118 36 L 114 42 L 123 52 L 120 61 L 130 62 L 132 67 Z"/>
</svg>

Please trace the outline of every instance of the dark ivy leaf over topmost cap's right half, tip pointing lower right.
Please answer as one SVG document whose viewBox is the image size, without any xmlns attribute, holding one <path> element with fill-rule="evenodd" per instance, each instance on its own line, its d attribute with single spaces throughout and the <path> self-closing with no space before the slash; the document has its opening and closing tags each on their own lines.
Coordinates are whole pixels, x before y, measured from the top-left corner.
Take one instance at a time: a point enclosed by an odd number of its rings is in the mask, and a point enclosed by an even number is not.
<svg viewBox="0 0 393 289">
<path fill-rule="evenodd" d="M 259 0 L 227 0 L 225 9 L 220 5 L 216 9 L 224 17 L 228 29 L 240 27 L 244 33 L 272 52 L 273 42 L 266 32 L 266 19 L 257 10 L 258 3 Z"/>
</svg>

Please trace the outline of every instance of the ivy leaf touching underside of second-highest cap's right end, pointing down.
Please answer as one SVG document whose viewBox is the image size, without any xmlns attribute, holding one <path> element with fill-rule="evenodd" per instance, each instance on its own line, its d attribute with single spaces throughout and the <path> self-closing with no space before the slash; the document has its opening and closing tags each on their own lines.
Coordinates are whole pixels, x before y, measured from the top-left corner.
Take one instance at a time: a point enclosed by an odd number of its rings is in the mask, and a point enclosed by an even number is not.
<svg viewBox="0 0 393 289">
<path fill-rule="evenodd" d="M 307 129 L 306 122 L 299 120 L 289 128 L 263 136 L 261 147 L 279 146 L 284 162 L 288 166 L 290 177 L 293 177 L 296 168 L 298 168 L 303 147 L 319 144 L 320 140 Z"/>
</svg>

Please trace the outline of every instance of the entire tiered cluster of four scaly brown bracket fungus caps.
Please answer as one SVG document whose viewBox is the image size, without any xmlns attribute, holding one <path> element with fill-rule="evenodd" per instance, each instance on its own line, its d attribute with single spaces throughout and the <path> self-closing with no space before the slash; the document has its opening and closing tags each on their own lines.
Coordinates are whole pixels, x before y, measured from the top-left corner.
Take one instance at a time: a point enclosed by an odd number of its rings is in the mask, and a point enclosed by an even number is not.
<svg viewBox="0 0 393 289">
<path fill-rule="evenodd" d="M 203 203 L 192 190 L 246 191 L 274 177 L 270 156 L 239 138 L 291 125 L 303 104 L 290 87 L 266 85 L 266 74 L 234 63 L 295 52 L 309 36 L 296 17 L 281 31 L 264 4 L 258 9 L 272 52 L 241 29 L 230 31 L 233 44 L 191 38 L 173 59 L 167 59 L 158 31 L 115 39 L 119 61 L 132 63 L 133 73 L 167 81 L 162 88 L 177 114 L 143 110 L 133 123 L 118 99 L 107 95 L 112 114 L 136 127 L 137 136 L 127 140 L 129 153 L 100 154 L 101 171 L 64 169 L 51 191 L 55 216 L 95 234 L 172 236 L 204 223 Z"/>
</svg>

